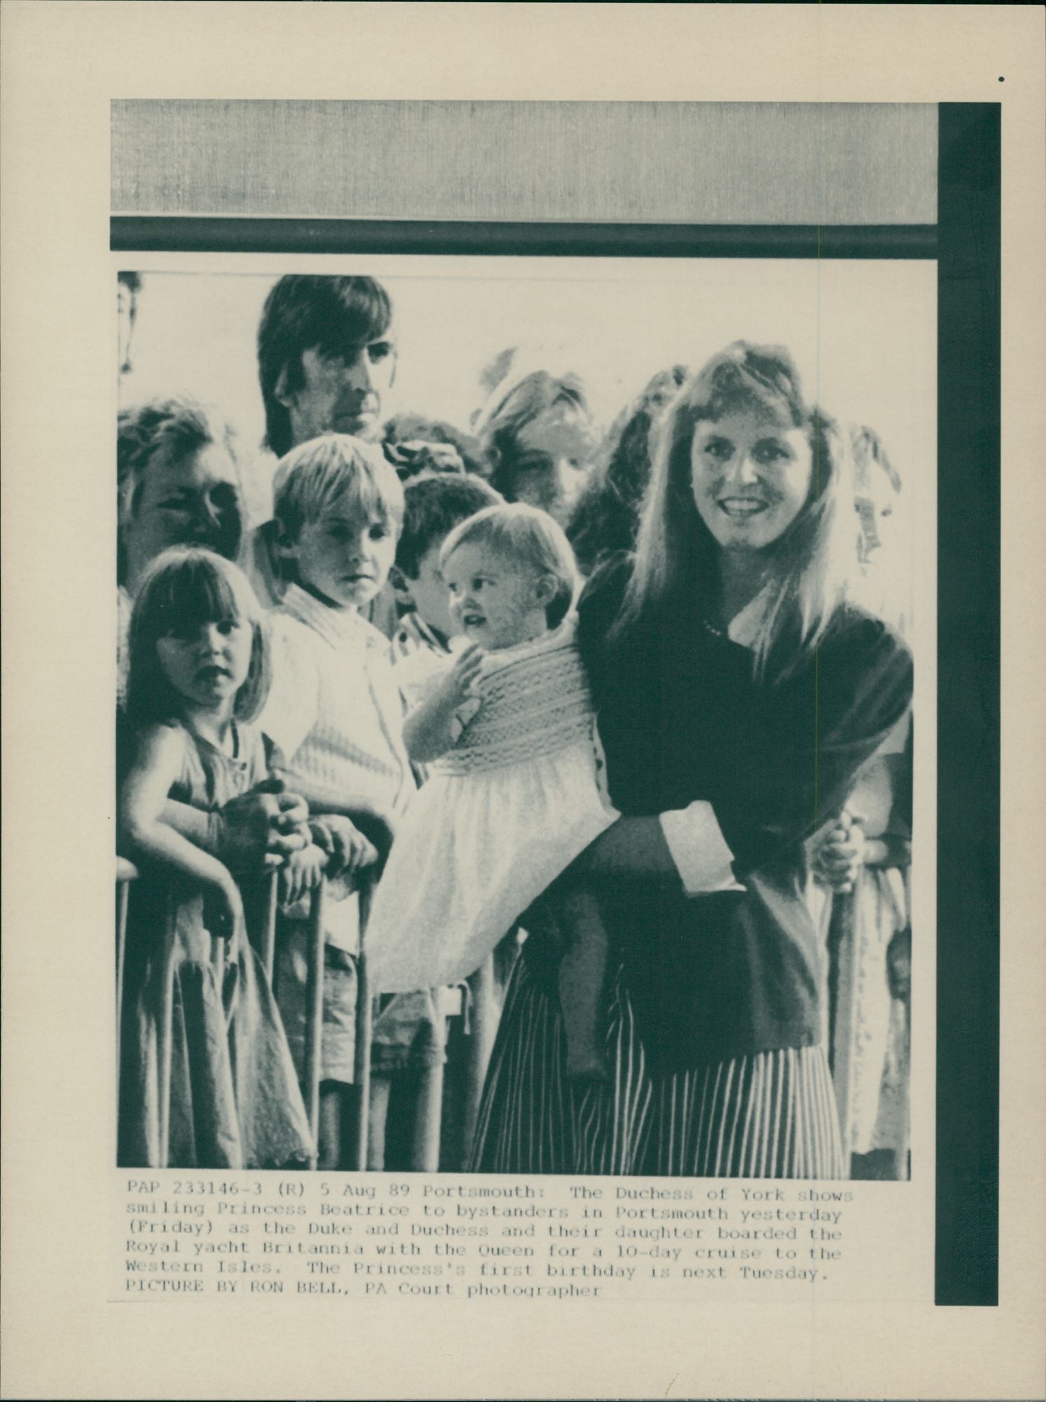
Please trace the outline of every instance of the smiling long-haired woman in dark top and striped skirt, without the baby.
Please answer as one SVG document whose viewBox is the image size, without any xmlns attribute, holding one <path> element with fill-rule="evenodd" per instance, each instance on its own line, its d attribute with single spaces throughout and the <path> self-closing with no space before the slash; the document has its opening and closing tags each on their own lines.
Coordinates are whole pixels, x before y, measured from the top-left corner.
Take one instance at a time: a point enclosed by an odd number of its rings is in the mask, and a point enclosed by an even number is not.
<svg viewBox="0 0 1046 1402">
<path fill-rule="evenodd" d="M 635 558 L 580 604 L 623 815 L 580 858 L 610 913 L 610 1081 L 565 1075 L 531 934 L 475 1171 L 843 1175 L 805 844 L 911 690 L 904 645 L 845 601 L 845 461 L 778 348 L 729 346 L 667 412 Z"/>
</svg>

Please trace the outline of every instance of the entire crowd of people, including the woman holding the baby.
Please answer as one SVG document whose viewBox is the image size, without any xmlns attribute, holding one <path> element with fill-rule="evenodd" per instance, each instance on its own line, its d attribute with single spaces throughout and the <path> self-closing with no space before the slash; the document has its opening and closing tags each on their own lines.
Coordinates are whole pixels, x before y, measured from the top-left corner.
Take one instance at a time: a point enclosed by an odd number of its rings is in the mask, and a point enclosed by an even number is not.
<svg viewBox="0 0 1046 1402">
<path fill-rule="evenodd" d="M 119 294 L 125 370 L 137 275 Z M 492 962 L 475 1131 L 440 1166 L 906 1172 L 911 656 L 878 435 L 743 341 L 607 432 L 520 349 L 468 425 L 395 414 L 362 276 L 276 280 L 257 359 L 261 519 L 219 408 L 119 414 L 121 1164 L 346 1166 L 366 887 L 372 1166 L 409 1166 L 390 1105 Z"/>
</svg>

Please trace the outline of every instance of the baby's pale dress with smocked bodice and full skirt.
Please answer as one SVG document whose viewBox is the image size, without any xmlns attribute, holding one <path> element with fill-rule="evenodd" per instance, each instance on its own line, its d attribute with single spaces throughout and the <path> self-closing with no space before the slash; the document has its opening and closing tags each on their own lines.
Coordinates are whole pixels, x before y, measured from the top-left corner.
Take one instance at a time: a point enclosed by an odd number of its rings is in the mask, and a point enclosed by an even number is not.
<svg viewBox="0 0 1046 1402">
<path fill-rule="evenodd" d="M 459 718 L 374 896 L 367 966 L 383 993 L 467 977 L 617 817 L 572 620 L 488 653 Z"/>
</svg>

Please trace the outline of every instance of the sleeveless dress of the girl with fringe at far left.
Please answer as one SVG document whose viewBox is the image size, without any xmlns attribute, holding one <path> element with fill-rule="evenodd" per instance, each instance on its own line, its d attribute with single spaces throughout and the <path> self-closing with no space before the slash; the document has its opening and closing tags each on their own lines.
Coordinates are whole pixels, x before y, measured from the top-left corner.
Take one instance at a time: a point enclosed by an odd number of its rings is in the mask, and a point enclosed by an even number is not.
<svg viewBox="0 0 1046 1402">
<path fill-rule="evenodd" d="M 171 798 L 219 809 L 266 777 L 261 733 L 238 728 L 230 758 L 184 728 Z M 250 892 L 244 892 L 245 901 Z M 250 906 L 248 906 L 250 908 Z M 313 1152 L 276 1002 L 247 931 L 213 932 L 213 907 L 170 871 L 143 872 L 130 894 L 121 1049 L 119 1162 L 160 1162 L 158 1030 L 164 932 L 172 921 L 174 1016 L 168 1165 L 276 1168 Z"/>
</svg>

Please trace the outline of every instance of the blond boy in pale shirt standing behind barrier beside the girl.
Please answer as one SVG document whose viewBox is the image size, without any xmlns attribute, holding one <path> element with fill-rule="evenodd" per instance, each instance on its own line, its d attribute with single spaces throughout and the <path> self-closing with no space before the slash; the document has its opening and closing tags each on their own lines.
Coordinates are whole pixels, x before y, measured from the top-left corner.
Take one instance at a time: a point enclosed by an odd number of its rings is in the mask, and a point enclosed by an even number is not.
<svg viewBox="0 0 1046 1402">
<path fill-rule="evenodd" d="M 388 639 L 362 617 L 395 557 L 404 496 L 380 450 L 331 433 L 293 449 L 273 482 L 276 559 L 286 593 L 272 620 L 273 684 L 261 728 L 278 770 L 310 812 L 314 845 L 297 854 L 299 893 L 327 873 L 377 859 L 414 789 Z M 349 883 L 351 886 L 351 883 Z M 358 901 L 327 903 L 320 1166 L 344 1162 L 351 1122 Z M 304 923 L 280 955 L 279 1004 L 292 1052 L 304 1047 Z"/>
</svg>

